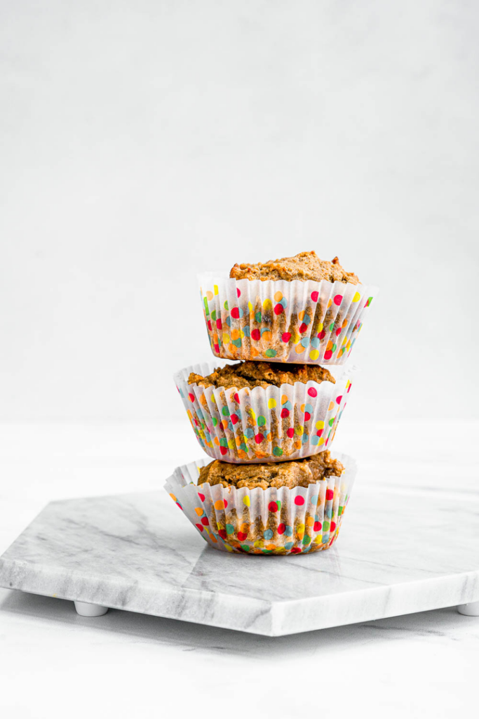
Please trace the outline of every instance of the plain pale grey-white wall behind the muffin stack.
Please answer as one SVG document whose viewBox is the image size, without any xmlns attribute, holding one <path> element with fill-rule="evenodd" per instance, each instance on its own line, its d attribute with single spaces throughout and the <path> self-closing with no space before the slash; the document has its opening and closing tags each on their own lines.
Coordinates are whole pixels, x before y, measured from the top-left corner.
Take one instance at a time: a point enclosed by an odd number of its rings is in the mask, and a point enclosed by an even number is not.
<svg viewBox="0 0 479 719">
<path fill-rule="evenodd" d="M 381 287 L 343 421 L 475 413 L 477 4 L 0 9 L 0 421 L 183 418 L 197 271 L 304 249 Z"/>
</svg>

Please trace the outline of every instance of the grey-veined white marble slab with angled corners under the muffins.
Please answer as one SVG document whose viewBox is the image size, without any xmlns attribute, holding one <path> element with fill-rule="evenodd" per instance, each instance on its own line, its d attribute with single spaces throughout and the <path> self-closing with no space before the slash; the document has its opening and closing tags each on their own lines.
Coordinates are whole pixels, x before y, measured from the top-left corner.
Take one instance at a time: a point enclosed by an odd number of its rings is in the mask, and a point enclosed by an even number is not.
<svg viewBox="0 0 479 719">
<path fill-rule="evenodd" d="M 164 490 L 63 500 L 1 557 L 0 586 L 280 636 L 477 602 L 478 526 L 457 482 L 361 478 L 332 549 L 250 557 L 207 546 Z"/>
</svg>

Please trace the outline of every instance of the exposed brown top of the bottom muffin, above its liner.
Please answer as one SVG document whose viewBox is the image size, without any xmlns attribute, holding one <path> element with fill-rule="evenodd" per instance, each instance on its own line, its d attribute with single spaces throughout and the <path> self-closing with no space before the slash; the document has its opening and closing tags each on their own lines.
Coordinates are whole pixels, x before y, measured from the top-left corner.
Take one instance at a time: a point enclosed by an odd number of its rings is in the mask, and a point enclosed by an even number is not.
<svg viewBox="0 0 479 719">
<path fill-rule="evenodd" d="M 198 485 L 209 482 L 210 485 L 223 487 L 307 487 L 312 482 L 324 480 L 334 475 L 340 477 L 344 472 L 343 464 L 332 459 L 328 449 L 312 457 L 297 459 L 296 462 L 269 462 L 261 464 L 230 464 L 215 459 L 202 467 Z"/>
</svg>

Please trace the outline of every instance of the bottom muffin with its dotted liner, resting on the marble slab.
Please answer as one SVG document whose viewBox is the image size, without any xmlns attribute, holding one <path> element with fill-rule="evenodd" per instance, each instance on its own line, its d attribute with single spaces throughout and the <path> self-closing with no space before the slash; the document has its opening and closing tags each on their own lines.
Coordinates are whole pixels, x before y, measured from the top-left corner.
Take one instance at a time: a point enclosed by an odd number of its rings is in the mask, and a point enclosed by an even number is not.
<svg viewBox="0 0 479 719">
<path fill-rule="evenodd" d="M 228 467 L 218 467 L 222 464 L 227 463 L 202 459 L 186 464 L 165 483 L 215 549 L 304 554 L 328 549 L 338 537 L 355 478 L 352 457 L 338 453 L 332 459 L 321 452 L 299 462 L 246 465 L 249 473 L 256 469 L 259 481 L 241 476 L 244 465 L 228 464 L 239 477 L 235 480 Z"/>
</svg>

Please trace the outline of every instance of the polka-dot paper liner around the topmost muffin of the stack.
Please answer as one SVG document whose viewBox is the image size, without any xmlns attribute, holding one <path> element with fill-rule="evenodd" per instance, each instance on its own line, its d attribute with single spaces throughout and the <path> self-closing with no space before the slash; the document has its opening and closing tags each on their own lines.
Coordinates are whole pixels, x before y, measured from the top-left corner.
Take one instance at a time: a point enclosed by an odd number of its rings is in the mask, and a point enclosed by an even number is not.
<svg viewBox="0 0 479 719">
<path fill-rule="evenodd" d="M 198 275 L 210 346 L 225 359 L 342 365 L 378 288 Z"/>
</svg>

